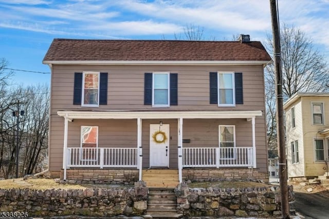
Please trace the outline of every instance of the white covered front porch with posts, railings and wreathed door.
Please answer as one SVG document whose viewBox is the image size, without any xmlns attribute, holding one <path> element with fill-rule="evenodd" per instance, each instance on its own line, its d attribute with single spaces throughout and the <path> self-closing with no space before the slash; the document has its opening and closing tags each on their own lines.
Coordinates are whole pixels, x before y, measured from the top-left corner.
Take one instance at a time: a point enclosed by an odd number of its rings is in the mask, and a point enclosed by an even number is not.
<svg viewBox="0 0 329 219">
<path fill-rule="evenodd" d="M 159 167 L 176 169 L 178 180 L 182 182 L 183 169 L 257 167 L 255 118 L 262 116 L 261 111 L 58 111 L 58 115 L 64 117 L 64 180 L 66 180 L 67 169 L 75 168 L 137 169 L 138 180 L 143 180 L 143 169 Z M 103 144 L 97 144 L 97 147 L 68 147 L 69 123 L 76 120 L 92 120 L 93 124 L 97 124 L 100 120 L 135 121 L 133 124 L 136 126 L 136 144 L 131 147 L 106 147 Z M 232 123 L 227 125 L 227 121 Z M 244 122 L 240 125 L 239 121 Z M 195 137 L 194 143 L 191 144 L 191 136 L 197 135 L 193 131 L 197 127 L 195 124 L 199 123 L 201 125 L 197 128 L 197 134 L 209 134 L 212 136 L 211 140 L 215 138 L 217 140 L 205 142 L 203 139 L 207 136 L 204 136 L 197 141 L 198 138 Z M 207 127 L 203 125 L 208 123 L 210 125 Z M 214 127 L 217 127 L 216 131 Z M 235 129 L 243 132 L 245 127 L 248 129 L 247 134 L 235 134 Z M 166 138 L 168 136 L 167 141 L 163 141 L 161 134 L 156 134 L 157 129 L 165 133 L 163 136 Z M 229 140 L 224 142 L 224 138 L 218 134 L 219 130 L 224 136 L 223 133 L 229 133 L 228 129 L 234 130 L 234 135 L 228 137 L 228 139 L 234 138 L 232 142 Z M 172 134 L 172 130 L 176 133 Z M 153 133 L 156 136 L 152 136 Z M 236 135 L 241 140 L 235 141 Z M 218 138 L 220 138 L 219 144 Z M 245 138 L 250 141 L 244 141 Z"/>
</svg>

